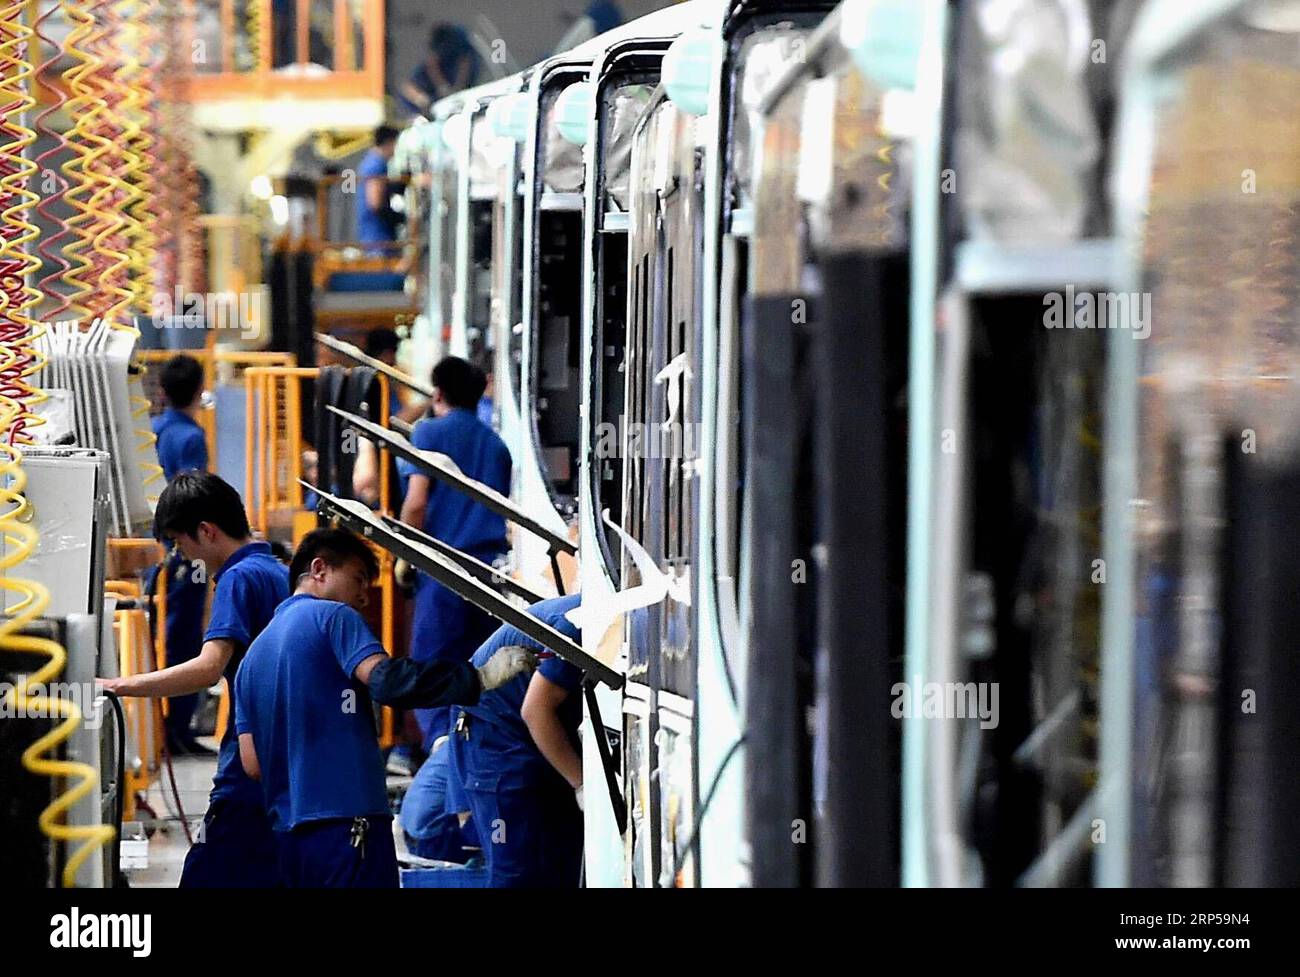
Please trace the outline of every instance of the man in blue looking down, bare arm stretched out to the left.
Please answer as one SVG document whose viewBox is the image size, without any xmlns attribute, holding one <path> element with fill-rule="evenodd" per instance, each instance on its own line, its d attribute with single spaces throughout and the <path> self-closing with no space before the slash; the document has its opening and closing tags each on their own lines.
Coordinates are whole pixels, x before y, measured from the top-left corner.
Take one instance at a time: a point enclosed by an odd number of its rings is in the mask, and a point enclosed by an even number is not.
<svg viewBox="0 0 1300 977">
<path fill-rule="evenodd" d="M 174 542 L 199 570 L 218 568 L 212 613 L 196 657 L 157 672 L 101 679 L 118 695 L 169 696 L 207 689 L 235 672 L 248 646 L 289 596 L 289 573 L 269 543 L 252 539 L 243 501 L 214 474 L 178 474 L 159 498 L 155 534 Z M 185 859 L 185 889 L 261 889 L 280 883 L 276 842 L 260 787 L 239 763 L 238 708 L 217 759 L 208 812 Z"/>
</svg>

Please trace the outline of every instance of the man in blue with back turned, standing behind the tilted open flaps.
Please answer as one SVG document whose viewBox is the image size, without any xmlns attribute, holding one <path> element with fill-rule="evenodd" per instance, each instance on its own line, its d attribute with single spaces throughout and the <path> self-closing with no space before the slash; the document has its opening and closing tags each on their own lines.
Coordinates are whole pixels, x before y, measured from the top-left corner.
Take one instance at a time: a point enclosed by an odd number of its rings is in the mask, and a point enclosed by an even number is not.
<svg viewBox="0 0 1300 977">
<path fill-rule="evenodd" d="M 510 494 L 511 460 L 506 443 L 474 416 L 486 377 L 477 366 L 448 356 L 433 368 L 433 417 L 420 421 L 411 443 L 451 457 L 460 470 L 503 495 Z M 400 470 L 402 466 L 399 466 Z M 506 552 L 506 521 L 464 492 L 406 466 L 410 474 L 402 521 L 462 552 L 491 564 Z M 467 661 L 493 633 L 497 621 L 433 578 L 415 581 L 411 657 L 417 661 Z M 424 750 L 447 733 L 447 709 L 416 712 Z"/>
</svg>

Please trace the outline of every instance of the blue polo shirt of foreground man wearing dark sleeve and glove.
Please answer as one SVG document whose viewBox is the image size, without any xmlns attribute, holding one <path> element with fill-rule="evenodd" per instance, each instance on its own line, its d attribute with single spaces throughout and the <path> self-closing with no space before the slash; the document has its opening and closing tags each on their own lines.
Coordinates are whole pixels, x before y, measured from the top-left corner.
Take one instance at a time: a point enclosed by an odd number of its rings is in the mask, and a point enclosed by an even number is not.
<svg viewBox="0 0 1300 977">
<path fill-rule="evenodd" d="M 389 813 L 369 691 L 352 678 L 382 653 L 356 611 L 309 594 L 281 604 L 248 648 L 237 730 L 252 735 L 274 830 Z"/>
</svg>

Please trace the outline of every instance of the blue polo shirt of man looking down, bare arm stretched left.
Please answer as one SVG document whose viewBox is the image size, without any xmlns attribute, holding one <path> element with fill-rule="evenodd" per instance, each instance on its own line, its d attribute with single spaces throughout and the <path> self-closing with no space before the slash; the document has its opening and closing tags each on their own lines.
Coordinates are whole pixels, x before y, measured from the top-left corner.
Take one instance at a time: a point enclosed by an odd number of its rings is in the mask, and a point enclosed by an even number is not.
<svg viewBox="0 0 1300 977">
<path fill-rule="evenodd" d="M 216 574 L 217 589 L 212 595 L 212 613 L 204 642 L 224 638 L 234 642 L 235 652 L 226 664 L 225 677 L 231 690 L 234 716 L 226 724 L 217 757 L 217 776 L 212 781 L 212 800 L 235 791 L 256 790 L 239 763 L 235 729 L 239 716 L 234 700 L 235 673 L 248 646 L 270 624 L 276 608 L 289 596 L 289 568 L 270 553 L 270 543 L 248 543 L 235 550 Z"/>
</svg>

